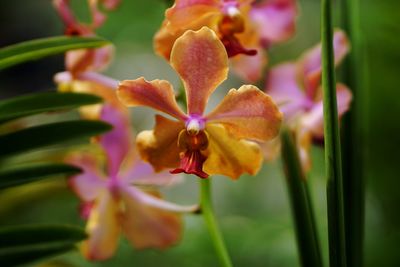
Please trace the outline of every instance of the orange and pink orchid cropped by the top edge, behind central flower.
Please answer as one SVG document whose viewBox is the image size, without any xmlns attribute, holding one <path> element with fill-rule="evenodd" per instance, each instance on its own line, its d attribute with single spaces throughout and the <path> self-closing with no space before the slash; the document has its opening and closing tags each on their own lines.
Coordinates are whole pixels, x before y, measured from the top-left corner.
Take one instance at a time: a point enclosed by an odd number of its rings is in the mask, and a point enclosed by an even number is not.
<svg viewBox="0 0 400 267">
<path fill-rule="evenodd" d="M 223 42 L 235 72 L 246 81 L 261 78 L 264 48 L 289 39 L 295 30 L 295 0 L 176 0 L 154 38 L 156 53 L 170 59 L 186 30 L 207 26 Z"/>
</svg>

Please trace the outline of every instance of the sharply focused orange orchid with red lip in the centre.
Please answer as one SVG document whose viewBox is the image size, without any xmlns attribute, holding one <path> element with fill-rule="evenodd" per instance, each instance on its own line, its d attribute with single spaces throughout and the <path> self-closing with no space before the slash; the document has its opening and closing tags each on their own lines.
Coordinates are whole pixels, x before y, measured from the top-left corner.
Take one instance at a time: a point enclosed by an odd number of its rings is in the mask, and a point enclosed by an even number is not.
<svg viewBox="0 0 400 267">
<path fill-rule="evenodd" d="M 243 85 L 231 89 L 214 111 L 203 114 L 209 96 L 228 73 L 225 47 L 207 27 L 179 37 L 170 62 L 185 86 L 187 114 L 178 107 L 168 81 L 142 77 L 122 81 L 117 90 L 127 106 L 147 106 L 176 119 L 156 115 L 155 129 L 138 135 L 142 158 L 156 171 L 173 168 L 172 173 L 201 178 L 255 174 L 262 154 L 253 140 L 275 137 L 282 118 L 271 98 L 253 85 Z"/>
</svg>

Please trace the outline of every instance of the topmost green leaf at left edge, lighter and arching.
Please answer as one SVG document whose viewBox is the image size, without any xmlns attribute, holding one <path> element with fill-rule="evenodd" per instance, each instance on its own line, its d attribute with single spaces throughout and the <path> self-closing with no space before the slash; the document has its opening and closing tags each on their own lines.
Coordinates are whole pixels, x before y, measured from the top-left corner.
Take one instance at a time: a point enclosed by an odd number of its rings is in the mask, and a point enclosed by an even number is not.
<svg viewBox="0 0 400 267">
<path fill-rule="evenodd" d="M 36 39 L 0 49 L 0 70 L 31 60 L 80 48 L 95 48 L 109 44 L 99 37 L 57 36 Z"/>
</svg>

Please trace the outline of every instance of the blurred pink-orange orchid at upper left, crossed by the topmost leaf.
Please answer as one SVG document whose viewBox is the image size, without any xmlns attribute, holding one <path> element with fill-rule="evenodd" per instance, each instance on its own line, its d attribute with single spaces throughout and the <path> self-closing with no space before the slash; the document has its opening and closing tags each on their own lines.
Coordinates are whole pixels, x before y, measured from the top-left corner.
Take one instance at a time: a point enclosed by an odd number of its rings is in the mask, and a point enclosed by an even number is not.
<svg viewBox="0 0 400 267">
<path fill-rule="evenodd" d="M 53 4 L 66 26 L 67 35 L 92 36 L 95 35 L 95 29 L 100 27 L 105 20 L 105 15 L 98 8 L 99 4 L 102 4 L 107 10 L 112 10 L 117 7 L 119 1 L 88 0 L 92 16 L 91 24 L 83 24 L 75 18 L 68 0 L 54 0 Z M 57 73 L 54 77 L 55 82 L 59 85 L 59 90 L 96 94 L 123 110 L 124 107 L 119 103 L 115 94 L 118 81 L 98 73 L 106 68 L 112 55 L 113 47 L 111 45 L 67 52 L 65 56 L 67 71 Z M 91 119 L 98 119 L 100 110 L 101 105 L 80 108 L 81 114 Z"/>
</svg>

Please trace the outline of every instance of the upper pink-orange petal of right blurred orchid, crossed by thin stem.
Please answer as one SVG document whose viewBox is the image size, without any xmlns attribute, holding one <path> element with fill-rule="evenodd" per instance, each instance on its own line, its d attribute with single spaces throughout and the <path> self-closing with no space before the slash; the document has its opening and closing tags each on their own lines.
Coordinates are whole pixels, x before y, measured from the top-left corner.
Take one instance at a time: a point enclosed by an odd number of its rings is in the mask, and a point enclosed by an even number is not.
<svg viewBox="0 0 400 267">
<path fill-rule="evenodd" d="M 335 55 L 335 66 L 342 62 L 350 50 L 349 40 L 341 30 L 336 30 L 333 36 L 333 49 Z M 321 44 L 316 45 L 306 52 L 298 62 L 300 77 L 304 77 L 306 94 L 314 99 L 321 81 Z"/>
</svg>

